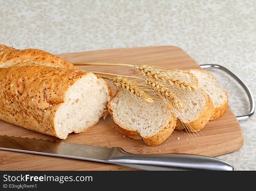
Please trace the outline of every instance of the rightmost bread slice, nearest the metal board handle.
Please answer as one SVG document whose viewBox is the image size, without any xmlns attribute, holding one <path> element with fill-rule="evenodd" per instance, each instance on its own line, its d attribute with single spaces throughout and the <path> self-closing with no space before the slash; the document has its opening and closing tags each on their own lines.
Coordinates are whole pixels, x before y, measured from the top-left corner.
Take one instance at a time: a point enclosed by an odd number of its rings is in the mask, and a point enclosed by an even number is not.
<svg viewBox="0 0 256 191">
<path fill-rule="evenodd" d="M 198 79 L 198 86 L 209 95 L 213 102 L 214 111 L 210 120 L 221 117 L 227 110 L 227 92 L 222 88 L 217 87 L 216 79 L 209 72 L 202 69 L 190 69 L 188 71 L 195 75 Z"/>
</svg>

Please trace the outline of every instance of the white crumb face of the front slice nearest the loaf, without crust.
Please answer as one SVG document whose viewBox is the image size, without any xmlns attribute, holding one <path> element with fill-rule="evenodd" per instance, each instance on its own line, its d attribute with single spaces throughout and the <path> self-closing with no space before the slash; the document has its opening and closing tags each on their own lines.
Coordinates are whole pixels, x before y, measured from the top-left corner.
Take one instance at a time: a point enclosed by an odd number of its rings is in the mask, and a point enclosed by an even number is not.
<svg viewBox="0 0 256 191">
<path fill-rule="evenodd" d="M 115 122 L 142 137 L 151 137 L 166 126 L 172 115 L 169 105 L 155 101 L 153 104 L 134 99 L 125 92 L 118 92 L 110 102 Z"/>
</svg>

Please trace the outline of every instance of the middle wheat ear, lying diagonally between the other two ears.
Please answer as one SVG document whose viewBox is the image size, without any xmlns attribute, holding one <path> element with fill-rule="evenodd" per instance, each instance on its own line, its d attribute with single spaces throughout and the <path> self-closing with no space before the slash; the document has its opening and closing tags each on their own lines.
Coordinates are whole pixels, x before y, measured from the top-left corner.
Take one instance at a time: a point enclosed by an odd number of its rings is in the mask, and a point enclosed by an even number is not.
<svg viewBox="0 0 256 191">
<path fill-rule="evenodd" d="M 175 94 L 170 92 L 169 88 L 166 88 L 163 83 L 157 81 L 156 79 L 145 79 L 145 84 L 153 88 L 154 91 L 162 94 L 168 101 L 170 101 L 176 109 L 182 108 L 181 100 L 175 96 Z"/>
</svg>

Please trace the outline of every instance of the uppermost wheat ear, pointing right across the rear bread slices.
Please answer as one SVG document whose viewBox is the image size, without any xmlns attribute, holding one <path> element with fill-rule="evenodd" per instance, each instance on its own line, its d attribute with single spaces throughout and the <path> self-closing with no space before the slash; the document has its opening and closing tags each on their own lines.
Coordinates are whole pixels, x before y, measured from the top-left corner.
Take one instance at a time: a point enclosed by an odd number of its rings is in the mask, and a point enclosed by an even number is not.
<svg viewBox="0 0 256 191">
<path fill-rule="evenodd" d="M 144 76 L 148 76 L 150 79 L 161 79 L 162 81 L 169 83 L 170 85 L 176 85 L 184 90 L 195 91 L 196 89 L 196 87 L 191 84 L 185 83 L 173 76 L 168 76 L 166 72 L 161 72 L 161 70 L 158 68 L 148 65 L 141 65 L 135 67 L 138 68 Z"/>
</svg>

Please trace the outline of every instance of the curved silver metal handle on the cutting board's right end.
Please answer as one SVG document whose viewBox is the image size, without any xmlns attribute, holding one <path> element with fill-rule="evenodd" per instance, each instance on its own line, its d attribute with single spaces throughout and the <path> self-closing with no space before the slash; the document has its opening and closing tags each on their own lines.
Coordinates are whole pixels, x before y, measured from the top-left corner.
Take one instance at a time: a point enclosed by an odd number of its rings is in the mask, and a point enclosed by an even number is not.
<svg viewBox="0 0 256 191">
<path fill-rule="evenodd" d="M 237 81 L 242 88 L 244 89 L 244 91 L 246 92 L 248 99 L 249 99 L 249 103 L 250 103 L 250 111 L 245 114 L 245 115 L 240 115 L 237 116 L 237 120 L 245 120 L 245 119 L 249 119 L 250 117 L 253 116 L 254 112 L 255 112 L 255 103 L 254 103 L 254 99 L 253 99 L 253 95 L 252 92 L 249 90 L 248 86 L 233 72 L 231 72 L 229 69 L 225 68 L 224 66 L 221 65 L 217 65 L 217 64 L 205 64 L 205 65 L 200 65 L 201 68 L 214 68 L 214 69 L 220 69 L 224 72 L 226 72 L 227 74 L 229 74 L 232 78 L 234 78 L 235 81 Z"/>
</svg>

